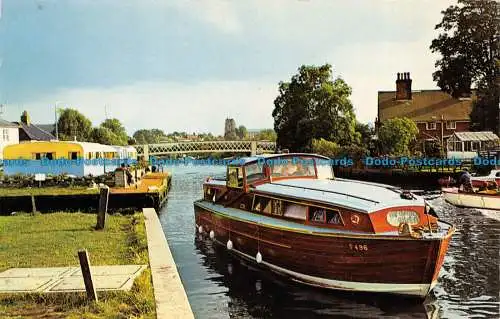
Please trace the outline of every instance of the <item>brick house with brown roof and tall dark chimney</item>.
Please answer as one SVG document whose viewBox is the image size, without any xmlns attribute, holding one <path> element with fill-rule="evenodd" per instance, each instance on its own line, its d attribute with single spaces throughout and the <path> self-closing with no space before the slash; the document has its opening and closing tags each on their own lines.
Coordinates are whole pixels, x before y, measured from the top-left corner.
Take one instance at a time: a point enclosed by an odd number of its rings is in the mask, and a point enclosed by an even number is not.
<svg viewBox="0 0 500 319">
<path fill-rule="evenodd" d="M 378 92 L 376 127 L 388 119 L 407 117 L 417 124 L 418 140 L 424 150 L 426 142 L 446 146 L 453 133 L 469 131 L 474 92 L 457 99 L 441 90 L 412 91 L 411 82 L 409 72 L 398 73 L 396 91 Z"/>
</svg>

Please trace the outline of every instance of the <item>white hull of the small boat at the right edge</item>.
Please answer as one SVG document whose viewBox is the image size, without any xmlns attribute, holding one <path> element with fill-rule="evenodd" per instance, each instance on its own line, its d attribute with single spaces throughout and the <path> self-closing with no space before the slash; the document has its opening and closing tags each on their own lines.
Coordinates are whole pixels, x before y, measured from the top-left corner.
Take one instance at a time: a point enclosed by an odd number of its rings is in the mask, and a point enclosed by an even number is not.
<svg viewBox="0 0 500 319">
<path fill-rule="evenodd" d="M 496 191 L 465 193 L 456 187 L 443 188 L 442 191 L 444 199 L 455 206 L 500 210 L 500 193 Z"/>
</svg>

